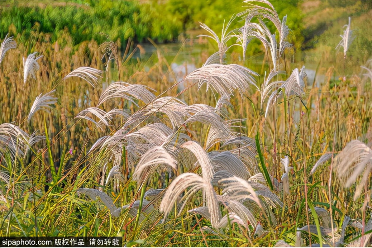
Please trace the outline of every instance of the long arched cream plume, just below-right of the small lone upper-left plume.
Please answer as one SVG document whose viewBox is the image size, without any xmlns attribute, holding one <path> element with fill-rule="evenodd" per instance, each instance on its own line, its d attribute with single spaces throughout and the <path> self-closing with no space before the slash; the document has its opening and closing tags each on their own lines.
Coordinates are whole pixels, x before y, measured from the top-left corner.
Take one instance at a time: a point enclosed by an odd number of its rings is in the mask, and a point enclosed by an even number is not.
<svg viewBox="0 0 372 248">
<path fill-rule="evenodd" d="M 142 100 L 144 103 L 149 103 L 155 98 L 155 95 L 151 93 L 150 90 L 153 89 L 140 84 L 115 82 L 110 84 L 109 87 L 107 87 L 106 90 L 102 92 L 101 96 L 99 97 L 97 106 L 109 99 L 117 97 L 126 99 L 134 103 L 136 106 L 138 105 L 135 102 L 135 99 Z"/>
</svg>

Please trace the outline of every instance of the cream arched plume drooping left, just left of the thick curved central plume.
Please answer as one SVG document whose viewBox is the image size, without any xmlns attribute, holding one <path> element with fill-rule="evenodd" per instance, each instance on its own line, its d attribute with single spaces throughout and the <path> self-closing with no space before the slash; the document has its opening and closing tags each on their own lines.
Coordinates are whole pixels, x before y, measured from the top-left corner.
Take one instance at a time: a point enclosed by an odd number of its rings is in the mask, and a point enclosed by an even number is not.
<svg viewBox="0 0 372 248">
<path fill-rule="evenodd" d="M 169 165 L 177 171 L 177 161 L 161 146 L 155 146 L 143 154 L 136 165 L 133 178 L 142 183 L 150 177 L 161 164 Z"/>
</svg>

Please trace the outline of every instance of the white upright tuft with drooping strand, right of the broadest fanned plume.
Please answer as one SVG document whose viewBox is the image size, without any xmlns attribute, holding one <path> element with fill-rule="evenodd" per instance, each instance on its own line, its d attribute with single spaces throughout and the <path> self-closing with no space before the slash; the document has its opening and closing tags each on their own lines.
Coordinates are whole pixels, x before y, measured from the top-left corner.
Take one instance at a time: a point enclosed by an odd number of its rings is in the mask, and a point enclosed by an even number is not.
<svg viewBox="0 0 372 248">
<path fill-rule="evenodd" d="M 273 105 L 274 100 L 278 99 L 282 94 L 283 91 L 286 94 L 287 97 L 295 95 L 295 96 L 301 96 L 305 93 L 304 88 L 307 81 L 307 74 L 305 72 L 305 66 L 302 66 L 301 70 L 299 71 L 298 68 L 295 68 L 292 71 L 292 74 L 287 78 L 286 81 L 279 81 L 275 82 L 280 84 L 280 93 L 278 93 L 278 90 L 274 90 L 272 94 L 269 97 L 269 100 L 267 101 L 266 106 L 266 112 L 265 117 L 267 116 L 267 113 L 269 112 L 270 107 Z"/>
</svg>

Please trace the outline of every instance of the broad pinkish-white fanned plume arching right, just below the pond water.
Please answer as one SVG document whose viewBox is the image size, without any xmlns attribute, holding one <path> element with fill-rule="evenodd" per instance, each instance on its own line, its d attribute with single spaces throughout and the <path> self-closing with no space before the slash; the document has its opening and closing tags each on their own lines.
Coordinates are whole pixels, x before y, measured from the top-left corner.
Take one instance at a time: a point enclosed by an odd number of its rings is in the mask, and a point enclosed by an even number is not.
<svg viewBox="0 0 372 248">
<path fill-rule="evenodd" d="M 252 85 L 259 90 L 252 75 L 257 76 L 258 74 L 241 65 L 210 64 L 196 69 L 187 75 L 185 80 L 198 80 L 198 88 L 206 83 L 207 90 L 211 88 L 230 100 L 230 96 L 234 94 L 235 89 L 241 95 Z"/>
</svg>

